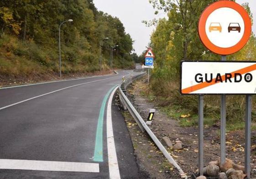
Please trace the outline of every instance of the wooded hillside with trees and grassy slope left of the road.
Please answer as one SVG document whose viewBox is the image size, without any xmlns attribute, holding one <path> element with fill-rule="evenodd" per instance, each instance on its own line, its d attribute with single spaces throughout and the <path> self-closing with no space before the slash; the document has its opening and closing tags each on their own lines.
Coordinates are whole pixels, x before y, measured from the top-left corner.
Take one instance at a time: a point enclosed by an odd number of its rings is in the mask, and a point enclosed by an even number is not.
<svg viewBox="0 0 256 179">
<path fill-rule="evenodd" d="M 1 0 L 0 79 L 58 73 L 58 28 L 61 27 L 63 74 L 99 71 L 102 43 L 103 70 L 133 67 L 133 41 L 122 22 L 97 10 L 93 0 Z"/>
</svg>

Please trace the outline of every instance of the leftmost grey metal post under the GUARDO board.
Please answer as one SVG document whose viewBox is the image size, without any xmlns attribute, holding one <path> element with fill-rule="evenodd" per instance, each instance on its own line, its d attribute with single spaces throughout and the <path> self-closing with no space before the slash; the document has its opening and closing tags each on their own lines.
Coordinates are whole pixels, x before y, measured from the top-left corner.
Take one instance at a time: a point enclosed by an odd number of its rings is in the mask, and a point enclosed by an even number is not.
<svg viewBox="0 0 256 179">
<path fill-rule="evenodd" d="M 199 95 L 199 174 L 204 175 L 204 96 Z"/>
</svg>

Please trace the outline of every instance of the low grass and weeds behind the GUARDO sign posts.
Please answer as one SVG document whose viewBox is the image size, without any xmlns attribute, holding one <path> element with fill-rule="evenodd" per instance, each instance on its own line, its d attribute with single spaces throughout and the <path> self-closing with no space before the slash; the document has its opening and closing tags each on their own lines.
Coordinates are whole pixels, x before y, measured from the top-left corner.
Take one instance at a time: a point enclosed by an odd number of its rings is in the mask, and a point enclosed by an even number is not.
<svg viewBox="0 0 256 179">
<path fill-rule="evenodd" d="M 147 97 L 150 102 L 155 102 L 159 109 L 166 113 L 167 116 L 177 120 L 181 127 L 191 127 L 198 125 L 198 100 L 196 96 L 181 96 L 175 88 L 175 84 L 167 85 L 162 89 L 169 92 L 158 93 L 155 92 L 156 87 L 152 88 L 152 85 L 156 85 L 153 81 L 151 88 L 149 89 L 146 84 L 142 87 L 141 96 Z M 157 83 L 158 84 L 158 83 Z M 161 81 L 161 85 L 164 82 Z M 176 85 L 177 86 L 177 85 Z M 162 94 L 168 94 L 163 96 Z M 220 100 L 219 96 L 204 96 L 204 126 L 214 126 L 220 123 Z M 243 96 L 228 96 L 227 97 L 227 130 L 243 130 L 245 129 L 244 122 L 244 97 Z M 183 116 L 187 115 L 187 116 Z M 182 116 L 184 118 L 182 118 Z M 256 130 L 256 111 L 252 111 L 252 125 L 251 129 Z"/>
</svg>

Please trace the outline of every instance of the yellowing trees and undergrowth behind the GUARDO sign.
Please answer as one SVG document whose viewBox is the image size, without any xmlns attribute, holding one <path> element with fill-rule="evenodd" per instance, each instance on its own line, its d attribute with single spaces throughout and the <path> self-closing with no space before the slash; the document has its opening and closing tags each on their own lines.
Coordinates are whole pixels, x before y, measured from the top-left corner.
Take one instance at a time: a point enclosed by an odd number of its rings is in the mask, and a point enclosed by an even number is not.
<svg viewBox="0 0 256 179">
<path fill-rule="evenodd" d="M 150 0 L 153 7 L 164 10 L 168 18 L 145 22 L 156 26 L 152 33 L 150 46 L 155 52 L 155 68 L 152 72 L 149 97 L 162 106 L 162 110 L 181 125 L 197 125 L 198 97 L 180 94 L 180 61 L 215 60 L 220 56 L 207 50 L 201 43 L 198 32 L 198 20 L 203 10 L 216 0 Z M 243 6 L 251 15 L 248 4 Z M 227 57 L 228 61 L 253 61 L 256 59 L 256 37 L 252 33 L 247 45 L 239 52 Z M 204 115 L 206 125 L 219 125 L 220 96 L 204 97 Z M 256 122 L 256 98 L 253 97 L 252 120 Z M 227 96 L 228 130 L 244 129 L 245 96 Z M 255 128 L 255 126 L 254 126 Z"/>
</svg>

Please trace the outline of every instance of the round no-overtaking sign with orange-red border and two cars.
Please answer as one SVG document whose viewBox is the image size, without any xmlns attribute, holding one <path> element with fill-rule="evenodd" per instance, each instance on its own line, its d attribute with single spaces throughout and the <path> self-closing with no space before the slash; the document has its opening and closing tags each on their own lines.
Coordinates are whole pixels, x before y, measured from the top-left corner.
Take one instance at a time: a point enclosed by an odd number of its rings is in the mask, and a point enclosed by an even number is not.
<svg viewBox="0 0 256 179">
<path fill-rule="evenodd" d="M 230 55 L 240 51 L 251 36 L 251 19 L 239 4 L 221 0 L 209 5 L 199 19 L 199 37 L 210 51 Z"/>
</svg>

